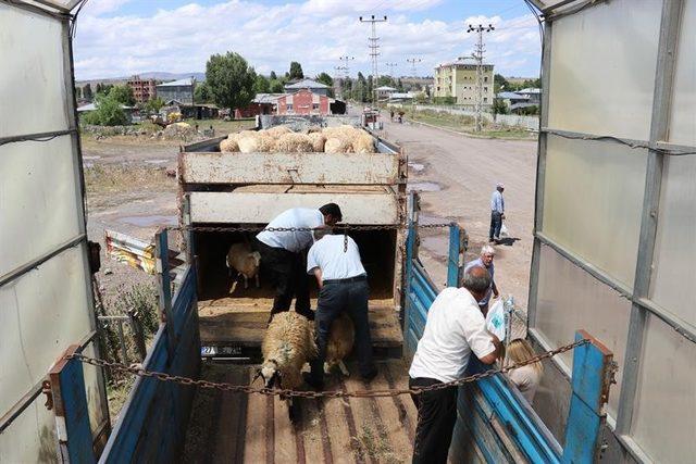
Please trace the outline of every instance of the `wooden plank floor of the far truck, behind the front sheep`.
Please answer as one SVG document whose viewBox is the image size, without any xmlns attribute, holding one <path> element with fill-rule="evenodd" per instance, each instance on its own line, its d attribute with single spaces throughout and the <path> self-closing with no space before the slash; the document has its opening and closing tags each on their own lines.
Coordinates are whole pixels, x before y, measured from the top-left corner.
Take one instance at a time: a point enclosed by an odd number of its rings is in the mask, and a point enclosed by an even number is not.
<svg viewBox="0 0 696 464">
<path fill-rule="evenodd" d="M 200 338 L 203 346 L 239 344 L 261 347 L 269 321 L 271 299 L 224 298 L 198 303 Z M 316 302 L 312 301 L 312 308 Z M 393 300 L 370 302 L 370 330 L 375 349 L 397 349 L 403 344 Z M 397 352 L 397 356 L 400 351 Z"/>
</svg>

